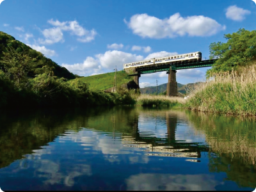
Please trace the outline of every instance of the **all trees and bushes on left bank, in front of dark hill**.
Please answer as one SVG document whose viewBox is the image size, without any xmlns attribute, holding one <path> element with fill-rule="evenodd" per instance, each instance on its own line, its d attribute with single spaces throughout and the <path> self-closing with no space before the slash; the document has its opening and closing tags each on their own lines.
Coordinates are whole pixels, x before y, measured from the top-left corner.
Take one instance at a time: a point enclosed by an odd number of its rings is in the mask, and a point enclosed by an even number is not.
<svg viewBox="0 0 256 192">
<path fill-rule="evenodd" d="M 91 90 L 81 78 L 67 81 L 64 77 L 58 77 L 54 65 L 42 65 L 40 73 L 33 77 L 31 68 L 35 67 L 38 60 L 23 47 L 21 51 L 12 46 L 6 47 L 2 53 L 0 62 L 4 68 L 0 70 L 0 108 L 96 106 L 135 102 L 126 91 L 105 93 Z"/>
</svg>

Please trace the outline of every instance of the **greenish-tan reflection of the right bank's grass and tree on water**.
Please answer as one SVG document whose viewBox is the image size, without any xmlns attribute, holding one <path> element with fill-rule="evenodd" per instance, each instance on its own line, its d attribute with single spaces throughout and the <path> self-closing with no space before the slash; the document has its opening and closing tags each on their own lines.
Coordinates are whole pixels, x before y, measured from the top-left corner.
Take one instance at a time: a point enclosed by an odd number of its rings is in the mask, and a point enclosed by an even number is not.
<svg viewBox="0 0 256 192">
<path fill-rule="evenodd" d="M 205 132 L 211 146 L 210 172 L 225 172 L 227 180 L 243 187 L 256 187 L 255 121 L 239 117 L 189 112 L 195 129 Z"/>
</svg>

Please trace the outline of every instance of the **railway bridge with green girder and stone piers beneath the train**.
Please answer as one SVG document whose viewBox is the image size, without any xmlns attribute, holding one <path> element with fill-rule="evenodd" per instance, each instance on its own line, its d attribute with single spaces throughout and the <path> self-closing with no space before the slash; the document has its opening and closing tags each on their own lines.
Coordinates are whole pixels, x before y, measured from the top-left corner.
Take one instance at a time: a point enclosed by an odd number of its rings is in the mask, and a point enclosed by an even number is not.
<svg viewBox="0 0 256 192">
<path fill-rule="evenodd" d="M 168 76 L 168 83 L 166 88 L 166 94 L 168 96 L 177 96 L 178 89 L 177 89 L 177 81 L 176 81 L 176 70 L 186 69 L 186 68 L 200 68 L 200 67 L 211 67 L 216 60 L 202 60 L 202 61 L 173 61 L 173 62 L 166 62 L 166 63 L 159 63 L 149 66 L 141 66 L 141 67 L 133 67 L 127 68 L 125 71 L 130 75 L 133 76 L 133 79 L 136 84 L 139 86 L 139 78 L 141 74 L 148 74 L 154 72 L 161 72 L 166 71 Z"/>
</svg>

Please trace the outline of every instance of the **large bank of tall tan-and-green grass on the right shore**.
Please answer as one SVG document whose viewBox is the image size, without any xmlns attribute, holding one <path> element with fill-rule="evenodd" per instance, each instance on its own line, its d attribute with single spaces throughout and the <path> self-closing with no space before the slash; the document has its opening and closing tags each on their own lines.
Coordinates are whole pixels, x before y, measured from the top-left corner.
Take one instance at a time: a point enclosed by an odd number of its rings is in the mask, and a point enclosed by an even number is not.
<svg viewBox="0 0 256 192">
<path fill-rule="evenodd" d="M 187 90 L 186 107 L 227 115 L 256 115 L 256 67 L 220 73 Z"/>
</svg>

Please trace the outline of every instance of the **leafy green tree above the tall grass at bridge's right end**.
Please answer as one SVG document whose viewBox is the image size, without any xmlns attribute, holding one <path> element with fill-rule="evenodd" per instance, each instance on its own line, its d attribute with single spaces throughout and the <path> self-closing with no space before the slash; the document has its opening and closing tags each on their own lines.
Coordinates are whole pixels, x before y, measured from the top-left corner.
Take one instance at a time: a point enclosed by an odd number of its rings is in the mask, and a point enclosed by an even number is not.
<svg viewBox="0 0 256 192">
<path fill-rule="evenodd" d="M 214 42 L 209 46 L 210 59 L 218 58 L 207 76 L 215 72 L 230 72 L 250 65 L 256 60 L 256 31 L 239 29 L 236 33 L 224 35 L 227 43 Z"/>
</svg>

